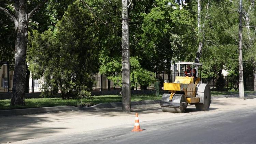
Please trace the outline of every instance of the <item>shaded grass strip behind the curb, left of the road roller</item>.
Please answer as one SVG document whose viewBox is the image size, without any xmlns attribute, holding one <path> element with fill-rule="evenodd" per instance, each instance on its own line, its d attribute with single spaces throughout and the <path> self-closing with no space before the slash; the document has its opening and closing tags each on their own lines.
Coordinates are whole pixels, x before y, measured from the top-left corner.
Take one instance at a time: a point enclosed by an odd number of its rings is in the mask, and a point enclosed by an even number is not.
<svg viewBox="0 0 256 144">
<path fill-rule="evenodd" d="M 155 95 L 132 95 L 131 101 L 142 100 L 160 100 L 161 96 Z M 105 96 L 92 96 L 89 98 L 83 98 L 82 102 L 87 105 L 95 105 L 98 103 L 110 103 L 110 102 L 122 102 L 122 97 L 118 95 L 105 95 Z M 36 98 L 25 99 L 25 106 L 10 106 L 11 99 L 0 100 L 0 110 L 10 109 L 26 109 L 35 107 L 51 107 L 51 106 L 78 106 L 81 103 L 80 99 L 68 99 L 62 100 L 61 98 Z"/>
</svg>

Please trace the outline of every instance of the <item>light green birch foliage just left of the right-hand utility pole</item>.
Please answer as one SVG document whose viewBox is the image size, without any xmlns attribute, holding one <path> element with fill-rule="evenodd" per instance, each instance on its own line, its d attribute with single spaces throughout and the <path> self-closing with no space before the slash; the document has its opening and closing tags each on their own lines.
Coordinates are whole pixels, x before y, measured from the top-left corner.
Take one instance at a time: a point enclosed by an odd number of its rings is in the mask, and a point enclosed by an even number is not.
<svg viewBox="0 0 256 144">
<path fill-rule="evenodd" d="M 201 59 L 202 77 L 211 77 L 217 90 L 223 90 L 225 86 L 222 71 L 232 73 L 233 69 L 238 68 L 238 46 L 230 34 L 230 26 L 236 24 L 237 20 L 234 13 L 230 13 L 231 8 L 231 2 L 212 1 L 208 19 L 204 21 L 206 41 Z"/>
</svg>

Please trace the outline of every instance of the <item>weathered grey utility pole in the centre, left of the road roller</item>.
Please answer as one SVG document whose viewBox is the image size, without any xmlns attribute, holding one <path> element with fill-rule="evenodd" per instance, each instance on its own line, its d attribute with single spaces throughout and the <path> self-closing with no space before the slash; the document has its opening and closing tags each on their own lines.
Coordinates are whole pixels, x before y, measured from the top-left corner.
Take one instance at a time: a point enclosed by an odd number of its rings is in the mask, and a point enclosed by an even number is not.
<svg viewBox="0 0 256 144">
<path fill-rule="evenodd" d="M 131 112 L 130 48 L 128 0 L 122 0 L 122 104 L 123 112 Z"/>
</svg>

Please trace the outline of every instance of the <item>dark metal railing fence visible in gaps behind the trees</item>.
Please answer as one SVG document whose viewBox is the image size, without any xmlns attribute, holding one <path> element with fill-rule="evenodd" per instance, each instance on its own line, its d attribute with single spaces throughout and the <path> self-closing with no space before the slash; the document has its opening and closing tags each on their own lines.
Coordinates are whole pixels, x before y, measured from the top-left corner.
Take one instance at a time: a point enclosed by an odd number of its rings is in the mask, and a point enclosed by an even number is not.
<svg viewBox="0 0 256 144">
<path fill-rule="evenodd" d="M 12 92 L 13 86 L 13 65 L 8 63 L 4 63 L 0 67 L 0 92 Z M 33 79 L 32 74 L 29 76 L 29 92 L 41 92 L 43 90 L 44 77 L 40 79 Z M 183 76 L 183 72 L 179 73 L 171 71 L 170 73 L 170 82 L 174 82 L 175 76 Z M 96 91 L 103 90 L 117 90 L 120 89 L 119 86 L 115 86 L 113 81 L 108 80 L 108 78 L 104 74 L 96 73 L 93 75 L 95 79 L 95 86 L 92 88 Z M 160 80 L 161 84 L 166 80 L 168 81 L 168 74 L 166 72 L 157 73 L 156 77 Z M 224 76 L 225 84 L 224 87 L 227 89 L 238 88 L 238 77 L 237 76 Z M 169 82 L 169 81 L 168 81 Z M 216 81 L 212 77 L 202 78 L 202 83 L 208 83 L 211 88 L 216 87 Z M 245 89 L 253 89 L 254 81 L 253 77 L 247 77 L 244 81 Z M 133 88 L 135 90 L 141 90 L 140 84 L 136 84 Z M 149 85 L 147 89 L 154 89 L 154 83 Z"/>
</svg>

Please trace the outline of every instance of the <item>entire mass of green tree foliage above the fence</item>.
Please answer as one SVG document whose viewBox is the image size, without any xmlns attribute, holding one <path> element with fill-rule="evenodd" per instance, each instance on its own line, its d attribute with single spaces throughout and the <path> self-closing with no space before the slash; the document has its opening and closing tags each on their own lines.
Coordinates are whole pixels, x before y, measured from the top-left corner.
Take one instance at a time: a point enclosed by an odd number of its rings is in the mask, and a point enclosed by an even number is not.
<svg viewBox="0 0 256 144">
<path fill-rule="evenodd" d="M 39 0 L 28 1 L 33 8 Z M 171 62 L 194 61 L 198 47 L 197 1 L 139 0 L 129 9 L 131 87 L 142 88 L 155 80 L 156 71 L 166 71 Z M 223 89 L 222 70 L 238 75 L 238 1 L 211 0 L 209 14 L 202 1 L 201 25 L 205 46 L 200 62 L 203 77 L 211 77 Z M 0 0 L 11 13 L 12 2 Z M 255 9 L 244 2 L 244 12 L 255 26 Z M 29 7 L 29 8 L 30 8 Z M 244 13 L 244 16 L 245 14 Z M 0 12 L 1 17 L 5 17 Z M 207 18 L 205 18 L 207 17 Z M 87 94 L 93 86 L 90 75 L 100 71 L 121 86 L 122 19 L 120 0 L 49 0 L 29 22 L 28 60 L 35 78 L 45 76 L 45 93 L 61 89 L 63 97 Z M 256 59 L 255 29 L 247 31 L 243 20 L 244 77 L 253 72 Z M 14 25 L 0 20 L 0 63 L 14 56 Z M 248 37 L 251 35 L 251 40 Z M 52 92 L 52 93 L 51 93 Z"/>
</svg>

